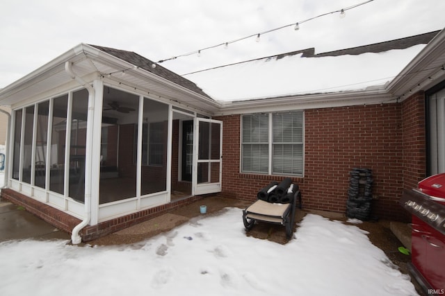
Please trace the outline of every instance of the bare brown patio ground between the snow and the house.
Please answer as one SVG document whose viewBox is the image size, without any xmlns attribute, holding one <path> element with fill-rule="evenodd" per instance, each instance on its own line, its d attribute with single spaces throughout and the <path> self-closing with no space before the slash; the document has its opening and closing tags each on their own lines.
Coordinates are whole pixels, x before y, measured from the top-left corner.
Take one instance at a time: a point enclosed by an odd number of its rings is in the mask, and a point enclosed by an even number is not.
<svg viewBox="0 0 445 296">
<path fill-rule="evenodd" d="M 200 214 L 200 205 L 202 204 L 207 206 L 207 214 Z M 238 207 L 242 209 L 249 204 L 251 204 L 251 202 L 211 196 L 185 207 L 181 207 L 180 209 L 170 211 L 167 214 L 163 214 L 162 216 L 153 218 L 144 223 L 109 234 L 108 236 L 104 236 L 95 241 L 90 241 L 88 242 L 88 245 L 124 245 L 138 243 L 152 236 L 156 236 L 156 234 L 160 234 L 161 232 L 168 232 L 171 229 L 186 223 L 191 218 L 200 215 L 217 215 L 218 211 L 221 211 L 225 207 Z M 346 221 L 348 220 L 348 218 L 341 213 L 298 209 L 296 211 L 296 227 L 298 227 L 298 223 L 302 218 L 309 213 L 318 214 L 332 220 L 344 221 L 345 223 L 347 223 Z M 70 240 L 70 234 L 56 229 L 40 218 L 33 216 L 33 214 L 24 211 L 21 207 L 17 207 L 15 204 L 1 199 L 0 221 L 0 242 L 26 238 Z M 393 224 L 393 227 L 391 227 L 391 224 Z M 394 235 L 394 232 L 391 231 L 391 228 L 394 228 L 394 223 L 391 223 L 391 221 L 388 220 L 379 220 L 376 222 L 365 221 L 354 225 L 369 232 L 368 236 L 371 243 L 384 251 L 389 259 L 391 259 L 392 263 L 398 265 L 401 272 L 404 274 L 408 273 L 407 263 L 411 261 L 411 256 L 401 254 L 401 252 L 398 251 L 398 247 L 401 247 L 403 243 L 401 243 L 396 235 Z M 400 229 L 400 227 L 398 229 Z M 403 233 L 405 231 L 399 230 L 399 232 Z M 288 241 L 284 232 L 284 227 L 267 223 L 259 223 L 258 225 L 255 225 L 253 229 L 248 232 L 248 236 L 267 239 L 281 244 L 287 243 Z M 413 284 L 416 286 L 417 291 L 421 293 L 421 290 L 415 281 L 413 281 Z"/>
</svg>

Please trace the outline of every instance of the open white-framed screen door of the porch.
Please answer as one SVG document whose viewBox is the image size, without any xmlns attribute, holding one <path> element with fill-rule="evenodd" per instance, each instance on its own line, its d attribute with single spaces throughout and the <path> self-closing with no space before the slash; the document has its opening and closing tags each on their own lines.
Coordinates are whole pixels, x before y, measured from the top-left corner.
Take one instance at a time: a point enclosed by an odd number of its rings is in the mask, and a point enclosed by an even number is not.
<svg viewBox="0 0 445 296">
<path fill-rule="evenodd" d="M 200 195 L 221 191 L 223 170 L 223 122 L 195 118 L 193 147 L 192 194 Z"/>
</svg>

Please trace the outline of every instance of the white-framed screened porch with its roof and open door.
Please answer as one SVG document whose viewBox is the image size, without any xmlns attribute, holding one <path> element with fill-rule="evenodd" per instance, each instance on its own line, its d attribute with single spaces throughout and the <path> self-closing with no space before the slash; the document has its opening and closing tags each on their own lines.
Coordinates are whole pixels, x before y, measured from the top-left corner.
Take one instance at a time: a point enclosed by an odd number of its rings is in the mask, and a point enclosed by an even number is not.
<svg viewBox="0 0 445 296">
<path fill-rule="evenodd" d="M 218 104 L 128 51 L 80 44 L 1 90 L 8 188 L 74 216 L 79 230 L 221 191 Z"/>
</svg>

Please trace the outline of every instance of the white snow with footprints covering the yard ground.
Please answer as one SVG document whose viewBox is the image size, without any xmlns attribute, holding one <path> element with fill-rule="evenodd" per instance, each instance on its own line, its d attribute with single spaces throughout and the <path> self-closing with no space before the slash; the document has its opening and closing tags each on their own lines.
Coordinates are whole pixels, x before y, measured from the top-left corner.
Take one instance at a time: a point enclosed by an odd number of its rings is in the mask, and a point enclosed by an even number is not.
<svg viewBox="0 0 445 296">
<path fill-rule="evenodd" d="M 307 214 L 280 245 L 245 235 L 241 209 L 136 245 L 0 243 L 0 295 L 417 295 L 366 232 Z"/>
</svg>

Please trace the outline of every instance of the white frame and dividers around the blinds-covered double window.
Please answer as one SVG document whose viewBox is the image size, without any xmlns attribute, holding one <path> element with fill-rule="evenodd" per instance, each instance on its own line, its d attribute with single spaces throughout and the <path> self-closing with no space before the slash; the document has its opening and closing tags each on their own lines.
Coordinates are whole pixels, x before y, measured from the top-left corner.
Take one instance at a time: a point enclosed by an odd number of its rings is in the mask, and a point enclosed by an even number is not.
<svg viewBox="0 0 445 296">
<path fill-rule="evenodd" d="M 292 144 L 301 144 L 302 145 L 302 170 L 301 173 L 274 173 L 273 172 L 273 115 L 277 113 L 286 113 L 286 112 L 301 112 L 302 114 L 302 141 L 301 142 L 292 142 Z M 258 113 L 257 113 L 258 114 Z M 264 113 L 261 113 L 264 114 Z M 259 175 L 288 175 L 293 177 L 304 177 L 305 175 L 305 112 L 302 110 L 291 110 L 291 111 L 284 111 L 284 112 L 268 112 L 266 113 L 268 115 L 268 172 L 260 172 L 260 171 L 243 171 L 243 146 L 245 144 L 248 144 L 247 142 L 243 142 L 243 117 L 244 116 L 252 116 L 254 114 L 243 114 L 241 115 L 241 124 L 240 124 L 240 173 L 247 173 L 247 174 L 259 174 Z M 258 143 L 261 144 L 261 143 Z"/>
</svg>

